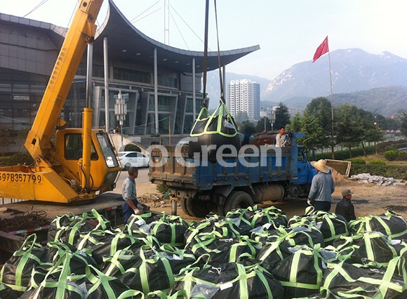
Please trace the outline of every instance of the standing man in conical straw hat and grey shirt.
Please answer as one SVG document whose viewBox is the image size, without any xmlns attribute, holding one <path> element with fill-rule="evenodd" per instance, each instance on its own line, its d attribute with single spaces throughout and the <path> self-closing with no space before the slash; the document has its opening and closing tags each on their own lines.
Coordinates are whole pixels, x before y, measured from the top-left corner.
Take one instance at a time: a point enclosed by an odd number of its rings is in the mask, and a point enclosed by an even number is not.
<svg viewBox="0 0 407 299">
<path fill-rule="evenodd" d="M 312 178 L 308 204 L 312 204 L 316 211 L 329 212 L 331 210 L 331 195 L 335 191 L 332 175 L 329 173 L 329 168 L 326 166 L 324 159 L 316 162 L 312 161 L 311 164 L 316 169 L 317 174 Z"/>
</svg>

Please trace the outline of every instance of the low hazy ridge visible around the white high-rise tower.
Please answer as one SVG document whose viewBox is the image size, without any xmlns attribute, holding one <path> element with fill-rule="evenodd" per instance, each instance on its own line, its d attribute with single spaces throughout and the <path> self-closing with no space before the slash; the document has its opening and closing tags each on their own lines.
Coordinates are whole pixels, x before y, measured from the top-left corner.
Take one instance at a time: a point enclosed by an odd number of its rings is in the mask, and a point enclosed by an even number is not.
<svg viewBox="0 0 407 299">
<path fill-rule="evenodd" d="M 241 79 L 250 79 L 253 82 L 260 84 L 260 93 L 265 93 L 267 86 L 270 83 L 269 79 L 248 75 L 248 74 L 234 74 L 226 73 L 226 88 L 230 81 L 232 80 L 241 80 Z M 215 109 L 218 107 L 220 100 L 220 81 L 219 81 L 219 70 L 208 72 L 208 78 L 206 82 L 206 93 L 208 93 L 209 100 L 209 109 Z M 227 94 L 227 92 L 225 93 Z M 225 98 L 227 100 L 227 98 Z M 274 103 L 267 102 L 267 107 Z"/>
</svg>

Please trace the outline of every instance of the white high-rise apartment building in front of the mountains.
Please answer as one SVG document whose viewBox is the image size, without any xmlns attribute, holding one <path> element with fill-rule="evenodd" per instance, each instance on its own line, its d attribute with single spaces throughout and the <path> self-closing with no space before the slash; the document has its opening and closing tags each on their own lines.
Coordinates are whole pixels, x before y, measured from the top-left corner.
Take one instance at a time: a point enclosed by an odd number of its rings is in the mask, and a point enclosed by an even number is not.
<svg viewBox="0 0 407 299">
<path fill-rule="evenodd" d="M 246 112 L 249 119 L 260 119 L 260 84 L 249 79 L 230 81 L 227 107 L 233 117 Z"/>
</svg>

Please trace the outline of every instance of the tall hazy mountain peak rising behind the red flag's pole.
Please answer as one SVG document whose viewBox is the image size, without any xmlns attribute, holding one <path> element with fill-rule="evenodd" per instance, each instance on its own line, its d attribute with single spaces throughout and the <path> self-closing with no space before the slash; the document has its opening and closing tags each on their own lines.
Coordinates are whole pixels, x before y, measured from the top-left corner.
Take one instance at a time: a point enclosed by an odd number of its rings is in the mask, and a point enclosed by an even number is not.
<svg viewBox="0 0 407 299">
<path fill-rule="evenodd" d="M 370 54 L 359 48 L 331 52 L 334 93 L 371 88 L 407 86 L 407 60 L 389 52 Z M 267 86 L 263 100 L 276 102 L 295 97 L 331 95 L 328 55 L 300 62 L 282 72 Z"/>
</svg>

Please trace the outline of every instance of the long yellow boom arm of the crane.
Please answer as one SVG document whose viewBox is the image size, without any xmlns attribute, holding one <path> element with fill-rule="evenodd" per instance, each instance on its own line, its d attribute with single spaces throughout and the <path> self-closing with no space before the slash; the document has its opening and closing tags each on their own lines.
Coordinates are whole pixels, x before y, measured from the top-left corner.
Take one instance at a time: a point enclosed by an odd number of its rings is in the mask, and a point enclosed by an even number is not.
<svg viewBox="0 0 407 299">
<path fill-rule="evenodd" d="M 79 67 L 86 45 L 93 42 L 95 21 L 103 0 L 81 0 L 55 62 L 25 148 L 36 159 L 51 152 L 51 137 Z"/>
</svg>

